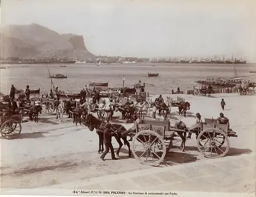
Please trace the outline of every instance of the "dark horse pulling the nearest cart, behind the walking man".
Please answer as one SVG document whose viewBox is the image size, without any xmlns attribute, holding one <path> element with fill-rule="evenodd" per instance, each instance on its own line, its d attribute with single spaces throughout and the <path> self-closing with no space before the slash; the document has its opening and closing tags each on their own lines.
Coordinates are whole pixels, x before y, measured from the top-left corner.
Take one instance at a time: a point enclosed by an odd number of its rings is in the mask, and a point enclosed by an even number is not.
<svg viewBox="0 0 256 197">
<path fill-rule="evenodd" d="M 93 131 L 94 128 L 96 129 L 96 132 L 99 136 L 99 150 L 98 150 L 98 153 L 104 151 L 104 149 L 103 149 L 103 130 L 105 129 L 106 124 L 107 124 L 107 122 L 97 119 L 92 114 L 88 114 L 87 117 L 86 117 L 86 121 L 84 122 L 84 125 L 86 125 L 90 131 Z M 127 132 L 125 127 L 123 127 L 122 125 L 118 125 L 118 124 L 111 124 L 111 130 L 113 130 L 113 131 L 117 130 L 118 131 L 118 135 L 115 135 L 116 141 L 119 144 L 119 148 L 116 152 L 117 157 L 119 157 L 119 152 L 120 152 L 121 147 L 123 145 L 123 143 L 121 142 L 121 139 L 123 140 L 124 145 L 128 146 L 129 157 L 132 157 L 132 152 L 131 152 L 131 149 L 130 149 L 130 143 L 129 143 L 129 141 L 127 141 L 126 136 L 121 135 L 121 133 Z"/>
</svg>

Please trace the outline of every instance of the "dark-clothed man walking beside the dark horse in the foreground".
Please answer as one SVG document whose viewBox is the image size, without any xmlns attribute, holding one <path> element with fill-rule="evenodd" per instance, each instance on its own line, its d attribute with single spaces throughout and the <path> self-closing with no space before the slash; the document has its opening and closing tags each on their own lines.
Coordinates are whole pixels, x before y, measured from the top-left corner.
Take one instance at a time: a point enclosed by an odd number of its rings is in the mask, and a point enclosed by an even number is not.
<svg viewBox="0 0 256 197">
<path fill-rule="evenodd" d="M 102 153 L 102 155 L 100 156 L 100 159 L 102 161 L 105 161 L 104 157 L 106 156 L 106 154 L 109 153 L 109 151 L 111 151 L 111 157 L 112 159 L 116 160 L 117 158 L 115 157 L 115 153 L 114 153 L 114 147 L 112 145 L 112 136 L 114 136 L 117 133 L 117 131 L 115 131 L 114 133 L 111 132 L 111 125 L 110 124 L 106 124 L 105 126 L 105 130 L 103 133 L 103 137 L 104 137 L 104 144 L 105 144 L 105 151 L 104 153 Z"/>
</svg>

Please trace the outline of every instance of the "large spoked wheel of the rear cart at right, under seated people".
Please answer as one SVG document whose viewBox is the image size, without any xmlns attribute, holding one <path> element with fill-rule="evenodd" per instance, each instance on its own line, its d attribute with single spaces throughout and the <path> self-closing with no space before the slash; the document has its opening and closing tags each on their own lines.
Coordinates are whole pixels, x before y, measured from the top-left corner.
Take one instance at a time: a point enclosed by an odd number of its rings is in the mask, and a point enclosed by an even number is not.
<svg viewBox="0 0 256 197">
<path fill-rule="evenodd" d="M 224 131 L 207 128 L 198 135 L 197 146 L 199 152 L 206 158 L 221 158 L 228 153 L 229 139 Z"/>
</svg>

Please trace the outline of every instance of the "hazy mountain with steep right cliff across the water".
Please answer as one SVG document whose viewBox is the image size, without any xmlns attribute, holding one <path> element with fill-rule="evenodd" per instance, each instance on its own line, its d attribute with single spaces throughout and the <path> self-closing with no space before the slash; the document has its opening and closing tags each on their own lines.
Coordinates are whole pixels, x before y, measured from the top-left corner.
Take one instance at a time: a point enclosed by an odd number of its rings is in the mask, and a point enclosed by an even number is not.
<svg viewBox="0 0 256 197">
<path fill-rule="evenodd" d="M 1 30 L 1 56 L 32 58 L 61 57 L 94 58 L 83 41 L 83 36 L 58 34 L 39 24 L 10 24 Z"/>
</svg>

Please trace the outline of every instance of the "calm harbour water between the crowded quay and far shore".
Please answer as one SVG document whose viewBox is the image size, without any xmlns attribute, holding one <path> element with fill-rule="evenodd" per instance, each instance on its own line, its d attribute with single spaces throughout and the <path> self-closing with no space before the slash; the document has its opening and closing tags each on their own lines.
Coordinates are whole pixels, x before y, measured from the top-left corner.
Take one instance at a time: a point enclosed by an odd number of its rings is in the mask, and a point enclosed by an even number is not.
<svg viewBox="0 0 256 197">
<path fill-rule="evenodd" d="M 152 66 L 155 65 L 155 66 Z M 53 79 L 55 86 L 59 90 L 77 92 L 92 82 L 109 82 L 110 87 L 122 87 L 122 76 L 125 76 L 125 87 L 133 85 L 141 80 L 142 82 L 153 84 L 146 85 L 145 91 L 150 94 L 168 94 L 177 87 L 180 90 L 193 89 L 195 81 L 207 77 L 234 77 L 232 65 L 221 64 L 66 64 L 67 67 L 58 65 L 48 65 L 51 75 L 62 73 L 67 75 L 67 79 Z M 25 89 L 26 85 L 30 89 L 41 89 L 41 93 L 49 92 L 51 80 L 47 78 L 49 72 L 46 65 L 31 64 L 28 67 L 23 65 L 2 65 L 6 69 L 0 69 L 1 72 L 1 89 L 3 93 L 8 93 L 11 84 L 17 89 Z M 9 67 L 9 68 L 8 68 Z M 250 70 L 256 70 L 256 64 L 236 65 L 238 76 L 247 76 Z M 147 77 L 147 72 L 159 72 L 158 77 Z M 256 75 L 256 73 L 255 73 Z M 256 81 L 256 77 L 250 77 Z"/>
</svg>

